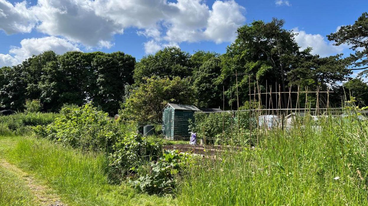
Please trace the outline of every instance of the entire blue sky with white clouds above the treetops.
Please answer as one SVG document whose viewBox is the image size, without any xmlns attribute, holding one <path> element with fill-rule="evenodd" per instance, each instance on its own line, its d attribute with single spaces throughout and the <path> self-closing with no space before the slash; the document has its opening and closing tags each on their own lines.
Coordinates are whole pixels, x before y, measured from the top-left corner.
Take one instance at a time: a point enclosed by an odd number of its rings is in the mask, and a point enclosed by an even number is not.
<svg viewBox="0 0 368 206">
<path fill-rule="evenodd" d="M 273 17 L 285 19 L 301 49 L 347 56 L 348 46 L 326 35 L 367 8 L 358 0 L 0 0 L 0 67 L 46 50 L 123 51 L 137 60 L 166 46 L 222 54 L 239 26 Z"/>
</svg>

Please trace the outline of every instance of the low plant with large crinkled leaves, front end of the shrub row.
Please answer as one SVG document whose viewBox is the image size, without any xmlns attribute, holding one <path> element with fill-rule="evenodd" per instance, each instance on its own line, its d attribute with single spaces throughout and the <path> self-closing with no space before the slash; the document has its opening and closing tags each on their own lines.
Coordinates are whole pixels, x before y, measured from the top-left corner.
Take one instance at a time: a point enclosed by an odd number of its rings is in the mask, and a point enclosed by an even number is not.
<svg viewBox="0 0 368 206">
<path fill-rule="evenodd" d="M 137 190 L 149 194 L 171 192 L 177 182 L 176 177 L 190 165 L 191 160 L 190 155 L 179 153 L 177 150 L 164 151 L 157 162 L 134 168 L 139 178 L 131 181 L 131 184 Z"/>
</svg>

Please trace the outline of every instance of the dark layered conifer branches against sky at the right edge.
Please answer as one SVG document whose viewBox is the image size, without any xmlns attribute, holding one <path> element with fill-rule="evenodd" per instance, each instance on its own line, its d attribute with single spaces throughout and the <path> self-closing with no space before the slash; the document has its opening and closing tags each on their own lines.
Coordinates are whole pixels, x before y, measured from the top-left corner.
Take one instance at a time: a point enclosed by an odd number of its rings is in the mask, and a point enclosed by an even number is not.
<svg viewBox="0 0 368 206">
<path fill-rule="evenodd" d="M 355 54 L 346 58 L 351 70 L 364 70 L 360 75 L 368 75 L 368 13 L 364 12 L 353 25 L 341 26 L 327 35 L 328 40 L 335 41 L 336 46 L 347 44 Z"/>
</svg>

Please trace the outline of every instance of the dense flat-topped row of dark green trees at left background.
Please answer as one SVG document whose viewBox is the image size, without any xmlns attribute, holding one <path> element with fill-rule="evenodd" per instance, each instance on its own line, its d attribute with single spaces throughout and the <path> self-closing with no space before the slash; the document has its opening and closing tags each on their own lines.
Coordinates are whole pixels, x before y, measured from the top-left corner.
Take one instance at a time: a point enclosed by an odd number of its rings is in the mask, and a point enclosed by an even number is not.
<svg viewBox="0 0 368 206">
<path fill-rule="evenodd" d="M 20 65 L 0 69 L 1 107 L 22 111 L 26 99 L 39 99 L 42 111 L 93 100 L 114 115 L 123 100 L 124 84 L 132 84 L 135 58 L 123 52 L 46 51 Z"/>
</svg>

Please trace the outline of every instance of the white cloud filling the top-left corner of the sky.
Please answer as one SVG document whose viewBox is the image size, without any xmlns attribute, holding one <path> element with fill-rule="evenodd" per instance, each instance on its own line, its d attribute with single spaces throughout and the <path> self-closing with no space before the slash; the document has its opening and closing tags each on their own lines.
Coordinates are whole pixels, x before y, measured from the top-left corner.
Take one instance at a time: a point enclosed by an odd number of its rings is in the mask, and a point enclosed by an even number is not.
<svg viewBox="0 0 368 206">
<path fill-rule="evenodd" d="M 0 0 L 0 30 L 7 34 L 31 32 L 36 22 L 36 16 L 26 8 L 25 1 L 13 5 Z"/>
</svg>

